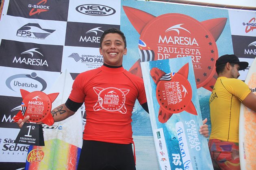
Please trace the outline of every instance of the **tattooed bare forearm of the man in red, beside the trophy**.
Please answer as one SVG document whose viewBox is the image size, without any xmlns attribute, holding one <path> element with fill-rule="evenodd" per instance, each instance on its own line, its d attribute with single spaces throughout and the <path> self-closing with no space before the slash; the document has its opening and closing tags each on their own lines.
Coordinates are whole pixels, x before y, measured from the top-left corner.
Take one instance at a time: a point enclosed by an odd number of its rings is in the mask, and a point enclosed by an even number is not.
<svg viewBox="0 0 256 170">
<path fill-rule="evenodd" d="M 65 104 L 61 104 L 60 106 L 54 108 L 52 111 L 52 117 L 54 122 L 63 121 L 68 117 L 75 114 L 74 111 L 69 110 Z"/>
</svg>

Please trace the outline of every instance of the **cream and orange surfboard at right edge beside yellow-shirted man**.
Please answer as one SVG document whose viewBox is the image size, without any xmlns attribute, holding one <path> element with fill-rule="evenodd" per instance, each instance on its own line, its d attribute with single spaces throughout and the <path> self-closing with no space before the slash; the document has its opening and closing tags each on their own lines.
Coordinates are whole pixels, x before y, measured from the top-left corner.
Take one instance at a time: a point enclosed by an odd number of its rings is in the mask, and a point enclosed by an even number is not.
<svg viewBox="0 0 256 170">
<path fill-rule="evenodd" d="M 245 83 L 256 94 L 256 59 L 252 63 Z M 256 113 L 241 104 L 239 117 L 239 156 L 241 170 L 255 170 Z"/>
</svg>

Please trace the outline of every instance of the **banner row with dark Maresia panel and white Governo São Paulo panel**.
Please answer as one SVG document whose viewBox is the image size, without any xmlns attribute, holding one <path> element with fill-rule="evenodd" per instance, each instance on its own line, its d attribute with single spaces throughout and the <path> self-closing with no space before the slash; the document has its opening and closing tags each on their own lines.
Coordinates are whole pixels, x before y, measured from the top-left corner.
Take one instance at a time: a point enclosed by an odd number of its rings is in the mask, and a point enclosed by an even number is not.
<svg viewBox="0 0 256 170">
<path fill-rule="evenodd" d="M 2 39 L 0 45 L 0 66 L 80 73 L 103 64 L 98 48 L 69 47 L 21 43 Z M 33 75 L 31 75 L 33 77 Z M 34 75 L 35 76 L 35 75 Z"/>
</svg>

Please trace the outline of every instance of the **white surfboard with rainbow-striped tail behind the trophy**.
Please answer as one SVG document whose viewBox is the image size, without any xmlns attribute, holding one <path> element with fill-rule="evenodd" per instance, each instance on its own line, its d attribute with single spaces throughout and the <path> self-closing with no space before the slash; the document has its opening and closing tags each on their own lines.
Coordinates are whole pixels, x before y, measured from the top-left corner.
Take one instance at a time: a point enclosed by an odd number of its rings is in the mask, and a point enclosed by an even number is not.
<svg viewBox="0 0 256 170">
<path fill-rule="evenodd" d="M 52 103 L 52 108 L 65 103 L 72 84 L 73 79 L 69 72 L 63 72 L 51 89 L 51 92 L 59 92 L 59 96 Z M 26 170 L 76 170 L 82 148 L 81 110 L 52 126 L 43 125 L 43 132 L 45 146 L 29 147 Z"/>
</svg>

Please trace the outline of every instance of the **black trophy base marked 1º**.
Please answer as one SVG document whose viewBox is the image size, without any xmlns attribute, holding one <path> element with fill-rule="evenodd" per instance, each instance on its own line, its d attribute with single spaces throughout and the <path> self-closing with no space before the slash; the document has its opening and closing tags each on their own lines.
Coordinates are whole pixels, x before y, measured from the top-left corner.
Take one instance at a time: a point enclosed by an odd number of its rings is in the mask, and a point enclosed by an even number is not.
<svg viewBox="0 0 256 170">
<path fill-rule="evenodd" d="M 42 125 L 24 123 L 14 142 L 34 146 L 44 146 Z"/>
</svg>

